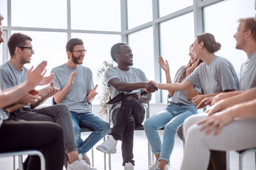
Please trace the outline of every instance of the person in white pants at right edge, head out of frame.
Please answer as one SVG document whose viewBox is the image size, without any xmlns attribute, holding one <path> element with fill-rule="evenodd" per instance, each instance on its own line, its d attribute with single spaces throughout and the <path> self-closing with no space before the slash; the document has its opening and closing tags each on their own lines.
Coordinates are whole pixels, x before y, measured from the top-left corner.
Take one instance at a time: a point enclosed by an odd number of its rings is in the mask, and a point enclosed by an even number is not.
<svg viewBox="0 0 256 170">
<path fill-rule="evenodd" d="M 206 111 L 208 114 L 193 115 L 185 120 L 186 143 L 181 169 L 206 169 L 210 149 L 256 147 L 255 96 L 256 88 L 253 88 L 216 103 Z"/>
</svg>

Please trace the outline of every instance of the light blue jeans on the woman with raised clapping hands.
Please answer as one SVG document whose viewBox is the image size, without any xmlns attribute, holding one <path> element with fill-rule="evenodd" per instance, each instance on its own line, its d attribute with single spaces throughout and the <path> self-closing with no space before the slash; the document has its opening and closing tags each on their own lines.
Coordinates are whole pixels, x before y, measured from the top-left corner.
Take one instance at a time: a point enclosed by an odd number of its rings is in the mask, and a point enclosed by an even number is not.
<svg viewBox="0 0 256 170">
<path fill-rule="evenodd" d="M 190 115 L 197 113 L 196 106 L 169 102 L 164 111 L 151 116 L 144 123 L 146 137 L 149 140 L 153 154 L 159 154 L 159 160 L 169 162 L 174 149 L 174 137 L 178 125 Z M 164 127 L 163 144 L 157 130 Z"/>
</svg>

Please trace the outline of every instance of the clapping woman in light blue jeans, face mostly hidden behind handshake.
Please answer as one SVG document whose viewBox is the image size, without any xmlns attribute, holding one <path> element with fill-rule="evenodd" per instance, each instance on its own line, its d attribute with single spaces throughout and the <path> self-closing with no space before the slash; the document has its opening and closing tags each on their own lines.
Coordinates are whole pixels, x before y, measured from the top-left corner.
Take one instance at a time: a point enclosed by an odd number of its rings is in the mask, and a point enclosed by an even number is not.
<svg viewBox="0 0 256 170">
<path fill-rule="evenodd" d="M 202 62 L 202 60 L 196 60 L 193 57 L 193 45 L 189 49 L 190 60 L 186 66 L 180 67 L 176 72 L 174 77 L 174 82 L 181 83 L 188 77 L 191 72 Z M 169 64 L 166 60 L 164 62 L 162 57 L 159 57 L 159 64 L 164 72 L 166 73 L 166 83 L 171 84 L 171 77 L 169 72 Z M 166 164 L 169 162 L 171 157 L 171 152 L 174 148 L 174 137 L 176 134 L 176 129 L 178 125 L 181 125 L 183 121 L 188 118 L 188 116 L 196 114 L 196 106 L 193 105 L 191 98 L 201 94 L 201 89 L 196 88 L 196 86 L 189 86 L 184 91 L 169 91 L 169 96 L 171 96 L 168 101 L 164 111 L 156 113 L 156 115 L 151 116 L 147 119 L 144 124 L 144 130 L 146 132 L 146 137 L 152 148 L 152 152 L 156 157 L 156 162 L 150 167 L 150 170 L 165 169 Z M 163 144 L 161 145 L 161 140 L 157 130 L 164 127 L 164 138 Z"/>
</svg>

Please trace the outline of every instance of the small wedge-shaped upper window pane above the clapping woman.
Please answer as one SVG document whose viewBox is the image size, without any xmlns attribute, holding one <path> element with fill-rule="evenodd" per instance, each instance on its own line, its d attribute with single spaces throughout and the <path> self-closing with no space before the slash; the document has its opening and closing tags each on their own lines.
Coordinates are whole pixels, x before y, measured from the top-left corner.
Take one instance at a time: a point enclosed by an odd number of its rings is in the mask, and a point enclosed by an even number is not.
<svg viewBox="0 0 256 170">
<path fill-rule="evenodd" d="M 169 15 L 183 8 L 193 5 L 193 0 L 170 1 L 159 0 L 159 15 L 160 17 Z"/>
</svg>

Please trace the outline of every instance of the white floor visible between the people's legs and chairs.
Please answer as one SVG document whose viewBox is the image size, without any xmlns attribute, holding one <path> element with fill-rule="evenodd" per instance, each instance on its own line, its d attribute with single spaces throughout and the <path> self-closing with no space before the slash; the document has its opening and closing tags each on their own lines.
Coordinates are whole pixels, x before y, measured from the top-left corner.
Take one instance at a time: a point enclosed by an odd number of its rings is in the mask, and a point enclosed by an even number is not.
<svg viewBox="0 0 256 170">
<path fill-rule="evenodd" d="M 161 131 L 159 131 L 162 134 Z M 83 133 L 82 136 L 86 137 L 86 133 Z M 100 141 L 98 144 L 100 144 Z M 134 133 L 134 160 L 136 170 L 146 170 L 148 168 L 148 145 L 147 145 L 146 135 L 144 131 L 135 131 Z M 88 152 L 88 156 L 92 162 L 92 154 Z M 94 149 L 94 157 L 95 157 L 95 168 L 98 170 L 104 169 L 104 154 L 102 152 Z M 174 151 L 171 154 L 170 161 L 170 170 L 179 169 L 181 166 L 181 160 L 183 157 L 183 142 L 176 137 Z M 111 155 L 111 166 L 112 170 L 122 170 L 122 154 L 121 154 L 121 142 L 117 143 L 117 153 Z M 16 161 L 17 162 L 17 161 Z M 107 163 L 108 163 L 108 155 L 107 155 Z M 18 165 L 16 163 L 16 165 Z M 108 164 L 106 164 L 108 169 Z M 0 170 L 12 170 L 13 169 L 13 159 L 12 157 L 0 158 Z M 243 162 L 244 170 L 252 170 L 255 168 L 255 157 L 254 153 L 245 154 L 244 162 Z M 236 152 L 230 152 L 230 170 L 238 170 L 238 154 Z"/>
</svg>

